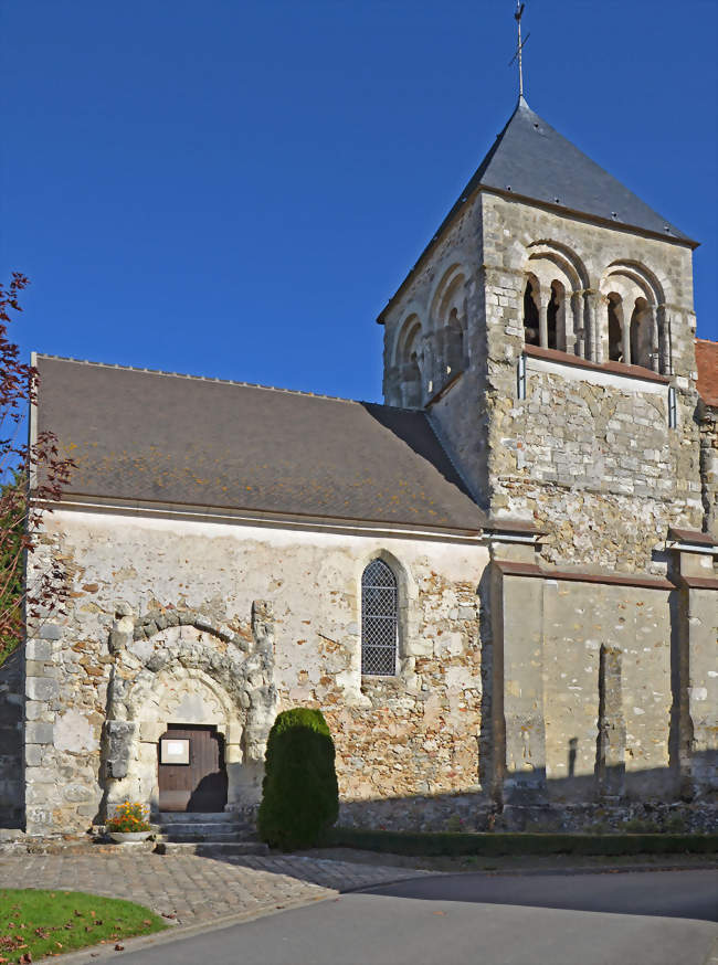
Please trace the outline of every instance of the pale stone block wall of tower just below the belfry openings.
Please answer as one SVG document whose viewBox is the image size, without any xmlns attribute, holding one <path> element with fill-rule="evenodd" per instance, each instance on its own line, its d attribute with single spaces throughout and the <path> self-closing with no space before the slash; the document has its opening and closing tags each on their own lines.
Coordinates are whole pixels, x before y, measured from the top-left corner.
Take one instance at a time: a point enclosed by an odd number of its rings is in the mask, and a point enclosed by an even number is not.
<svg viewBox="0 0 718 965">
<path fill-rule="evenodd" d="M 668 526 L 703 516 L 693 428 L 667 409 L 661 383 L 529 359 L 526 399 L 493 406 L 495 513 L 545 529 L 552 563 L 665 573 Z"/>
</svg>

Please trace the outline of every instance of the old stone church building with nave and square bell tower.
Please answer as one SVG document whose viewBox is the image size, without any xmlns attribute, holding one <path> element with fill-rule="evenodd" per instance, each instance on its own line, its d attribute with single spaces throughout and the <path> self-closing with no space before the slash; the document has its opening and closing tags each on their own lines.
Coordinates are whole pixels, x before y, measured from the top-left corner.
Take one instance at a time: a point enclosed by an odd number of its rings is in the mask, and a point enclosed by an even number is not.
<svg viewBox="0 0 718 965">
<path fill-rule="evenodd" d="M 251 816 L 277 712 L 313 707 L 344 825 L 705 826 L 695 247 L 521 97 L 378 319 L 384 404 L 36 356 L 32 432 L 76 469 L 28 576 L 70 601 L 0 669 L 0 814 Z"/>
</svg>

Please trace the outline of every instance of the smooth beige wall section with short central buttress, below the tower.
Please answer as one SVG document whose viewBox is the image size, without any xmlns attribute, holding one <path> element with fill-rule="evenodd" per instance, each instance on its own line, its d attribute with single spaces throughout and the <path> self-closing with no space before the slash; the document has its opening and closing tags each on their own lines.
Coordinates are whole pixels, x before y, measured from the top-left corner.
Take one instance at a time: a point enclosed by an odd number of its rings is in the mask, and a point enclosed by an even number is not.
<svg viewBox="0 0 718 965">
<path fill-rule="evenodd" d="M 499 593 L 506 798 L 671 796 L 668 591 L 547 574 L 505 575 Z"/>
</svg>

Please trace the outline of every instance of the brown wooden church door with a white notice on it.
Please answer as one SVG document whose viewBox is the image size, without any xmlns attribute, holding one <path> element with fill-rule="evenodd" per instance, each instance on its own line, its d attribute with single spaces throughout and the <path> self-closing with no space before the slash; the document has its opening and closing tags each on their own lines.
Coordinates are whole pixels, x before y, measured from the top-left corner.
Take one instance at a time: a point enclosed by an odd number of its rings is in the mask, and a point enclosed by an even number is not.
<svg viewBox="0 0 718 965">
<path fill-rule="evenodd" d="M 226 770 L 222 735 L 213 727 L 168 724 L 160 741 L 167 738 L 189 740 L 189 764 L 162 764 L 159 757 L 159 809 L 223 810 Z"/>
</svg>

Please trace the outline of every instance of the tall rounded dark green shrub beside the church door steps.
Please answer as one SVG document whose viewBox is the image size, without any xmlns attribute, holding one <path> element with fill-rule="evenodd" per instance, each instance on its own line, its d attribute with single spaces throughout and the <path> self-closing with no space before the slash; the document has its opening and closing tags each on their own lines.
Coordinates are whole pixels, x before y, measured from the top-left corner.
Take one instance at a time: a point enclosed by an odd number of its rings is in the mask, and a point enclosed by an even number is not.
<svg viewBox="0 0 718 965">
<path fill-rule="evenodd" d="M 278 714 L 267 741 L 257 830 L 273 848 L 313 847 L 339 815 L 334 741 L 321 711 Z"/>
</svg>

